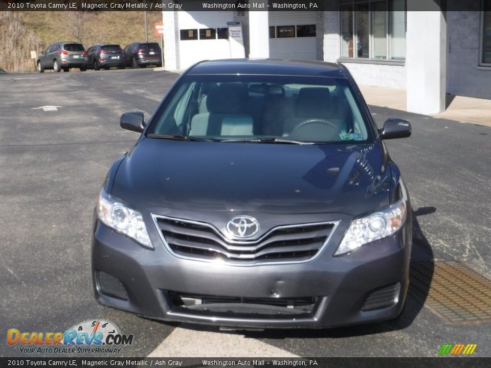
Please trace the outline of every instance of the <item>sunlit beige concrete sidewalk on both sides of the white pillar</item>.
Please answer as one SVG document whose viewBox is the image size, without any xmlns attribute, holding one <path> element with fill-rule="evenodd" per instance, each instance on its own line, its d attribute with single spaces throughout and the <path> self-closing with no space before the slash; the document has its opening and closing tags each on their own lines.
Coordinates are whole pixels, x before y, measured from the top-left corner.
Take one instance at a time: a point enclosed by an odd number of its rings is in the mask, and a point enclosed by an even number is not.
<svg viewBox="0 0 491 368">
<path fill-rule="evenodd" d="M 365 85 L 359 87 L 369 105 L 406 111 L 405 90 Z M 491 126 L 491 100 L 447 95 L 447 110 L 432 116 L 462 123 Z"/>
</svg>

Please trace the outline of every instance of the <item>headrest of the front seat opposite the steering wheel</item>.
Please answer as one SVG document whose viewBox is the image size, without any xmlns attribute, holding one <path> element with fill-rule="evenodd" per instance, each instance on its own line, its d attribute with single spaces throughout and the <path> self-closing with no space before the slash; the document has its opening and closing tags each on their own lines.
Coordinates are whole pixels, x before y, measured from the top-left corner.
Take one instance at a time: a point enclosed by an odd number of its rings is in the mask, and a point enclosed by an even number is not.
<svg viewBox="0 0 491 368">
<path fill-rule="evenodd" d="M 244 100 L 247 99 L 248 88 L 242 83 L 220 83 L 210 91 L 206 100 L 209 112 L 239 113 Z"/>
</svg>

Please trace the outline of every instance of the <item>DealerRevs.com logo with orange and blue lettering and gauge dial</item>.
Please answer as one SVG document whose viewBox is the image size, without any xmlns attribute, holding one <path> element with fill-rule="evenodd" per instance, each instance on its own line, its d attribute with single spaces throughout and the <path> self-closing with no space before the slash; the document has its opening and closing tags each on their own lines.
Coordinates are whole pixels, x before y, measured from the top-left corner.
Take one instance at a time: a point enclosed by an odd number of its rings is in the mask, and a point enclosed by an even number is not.
<svg viewBox="0 0 491 368">
<path fill-rule="evenodd" d="M 132 334 L 121 334 L 118 327 L 102 319 L 86 320 L 65 332 L 7 331 L 7 344 L 25 354 L 114 354 L 133 343 Z"/>
</svg>

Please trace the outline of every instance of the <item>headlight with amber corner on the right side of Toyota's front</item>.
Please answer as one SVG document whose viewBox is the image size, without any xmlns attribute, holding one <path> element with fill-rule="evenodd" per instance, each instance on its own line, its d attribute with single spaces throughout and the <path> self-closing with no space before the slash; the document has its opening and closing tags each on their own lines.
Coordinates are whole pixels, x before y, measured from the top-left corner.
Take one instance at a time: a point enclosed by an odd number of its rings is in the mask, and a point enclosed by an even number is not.
<svg viewBox="0 0 491 368">
<path fill-rule="evenodd" d="M 341 256 L 372 241 L 386 238 L 406 222 L 406 199 L 401 199 L 387 210 L 353 220 L 334 256 Z"/>
</svg>

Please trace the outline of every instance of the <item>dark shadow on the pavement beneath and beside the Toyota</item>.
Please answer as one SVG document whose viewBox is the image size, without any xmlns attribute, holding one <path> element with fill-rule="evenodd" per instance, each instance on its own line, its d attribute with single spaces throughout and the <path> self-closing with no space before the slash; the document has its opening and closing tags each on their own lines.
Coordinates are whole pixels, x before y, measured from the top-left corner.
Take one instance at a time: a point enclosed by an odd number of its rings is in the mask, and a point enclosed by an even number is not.
<svg viewBox="0 0 491 368">
<path fill-rule="evenodd" d="M 409 327 L 419 311 L 425 305 L 426 297 L 430 289 L 430 282 L 433 277 L 433 251 L 428 239 L 423 234 L 419 225 L 418 217 L 426 216 L 436 212 L 434 207 L 421 207 L 413 209 L 413 245 L 411 250 L 411 269 L 410 286 L 406 305 L 403 312 L 395 319 L 364 325 L 347 327 L 336 327 L 331 329 L 267 329 L 267 330 L 247 330 L 247 329 L 224 329 L 220 330 L 214 326 L 200 326 L 193 324 L 181 324 L 180 327 L 197 331 L 212 331 L 222 333 L 240 333 L 247 338 L 258 339 L 285 339 L 285 338 L 343 338 L 363 335 L 379 334 L 384 332 L 403 330 Z M 418 288 L 413 286 L 414 265 L 425 262 L 426 276 L 428 282 L 417 283 Z M 164 322 L 164 324 L 167 324 Z"/>
</svg>

